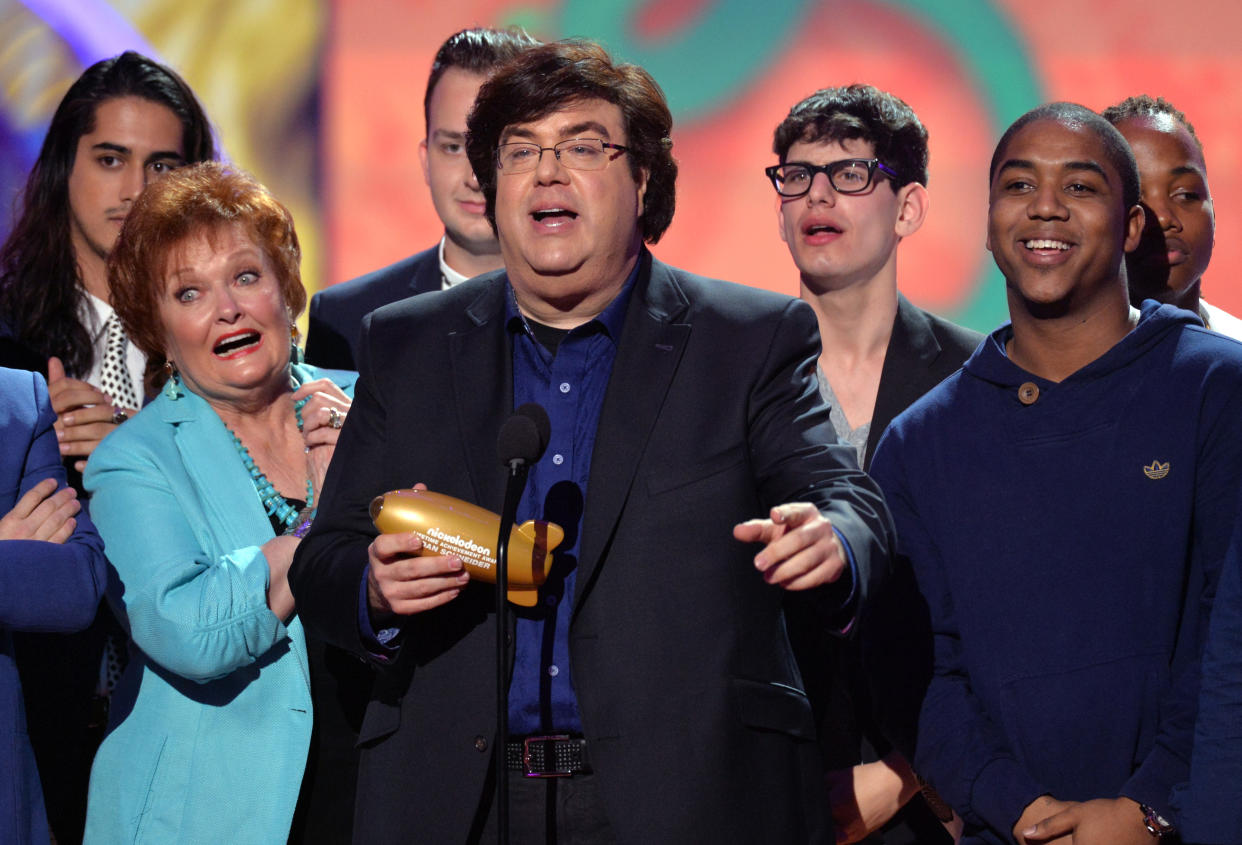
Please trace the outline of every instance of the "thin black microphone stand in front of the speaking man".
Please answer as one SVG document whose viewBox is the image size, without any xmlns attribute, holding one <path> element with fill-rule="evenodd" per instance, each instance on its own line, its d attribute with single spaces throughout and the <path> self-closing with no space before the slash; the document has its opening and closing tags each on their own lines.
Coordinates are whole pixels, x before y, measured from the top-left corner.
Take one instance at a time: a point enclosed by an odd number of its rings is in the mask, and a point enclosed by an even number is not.
<svg viewBox="0 0 1242 845">
<path fill-rule="evenodd" d="M 509 533 L 517 522 L 518 502 L 527 486 L 525 460 L 509 461 L 509 481 L 501 511 L 501 536 L 496 541 L 496 830 L 501 845 L 509 843 L 509 778 L 505 753 L 509 739 Z"/>
</svg>

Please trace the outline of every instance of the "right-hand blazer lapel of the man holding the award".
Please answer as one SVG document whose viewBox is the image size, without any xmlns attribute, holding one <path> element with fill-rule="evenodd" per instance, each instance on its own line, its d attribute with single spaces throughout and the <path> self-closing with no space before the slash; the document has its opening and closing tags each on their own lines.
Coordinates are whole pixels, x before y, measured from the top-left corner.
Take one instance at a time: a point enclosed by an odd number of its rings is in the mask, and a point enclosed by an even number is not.
<svg viewBox="0 0 1242 845">
<path fill-rule="evenodd" d="M 683 319 L 689 303 L 672 270 L 646 251 L 641 261 L 643 266 L 626 311 L 591 455 L 575 613 L 606 557 L 638 462 L 691 334 L 691 326 Z"/>
</svg>

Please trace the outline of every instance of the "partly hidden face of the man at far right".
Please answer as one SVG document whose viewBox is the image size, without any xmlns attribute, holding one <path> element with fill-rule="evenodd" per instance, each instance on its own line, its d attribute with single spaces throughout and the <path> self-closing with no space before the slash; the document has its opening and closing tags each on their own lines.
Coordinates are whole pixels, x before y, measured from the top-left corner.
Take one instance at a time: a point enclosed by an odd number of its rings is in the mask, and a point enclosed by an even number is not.
<svg viewBox="0 0 1242 845">
<path fill-rule="evenodd" d="M 1169 114 L 1131 118 L 1117 128 L 1139 164 L 1148 214 L 1143 240 L 1125 262 L 1131 298 L 1194 309 L 1216 239 L 1203 154 L 1186 127 Z"/>
</svg>

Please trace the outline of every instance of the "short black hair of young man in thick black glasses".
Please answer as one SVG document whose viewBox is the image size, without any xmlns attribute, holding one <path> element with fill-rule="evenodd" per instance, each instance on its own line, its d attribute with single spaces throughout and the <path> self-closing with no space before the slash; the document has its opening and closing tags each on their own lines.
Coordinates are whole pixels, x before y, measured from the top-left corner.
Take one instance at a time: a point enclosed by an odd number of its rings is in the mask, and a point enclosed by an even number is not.
<svg viewBox="0 0 1242 845">
<path fill-rule="evenodd" d="M 867 142 L 876 158 L 900 174 L 889 180 L 893 191 L 912 181 L 928 184 L 928 130 L 903 99 L 869 84 L 816 91 L 776 127 L 773 152 L 784 164 L 799 142 L 845 140 Z"/>
</svg>

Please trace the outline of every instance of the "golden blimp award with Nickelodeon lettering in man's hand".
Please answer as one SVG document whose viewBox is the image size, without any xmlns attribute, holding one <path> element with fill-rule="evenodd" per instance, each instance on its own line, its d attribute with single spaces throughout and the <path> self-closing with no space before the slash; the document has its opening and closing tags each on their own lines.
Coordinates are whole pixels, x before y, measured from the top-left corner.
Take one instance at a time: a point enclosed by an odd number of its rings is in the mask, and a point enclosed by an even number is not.
<svg viewBox="0 0 1242 845">
<path fill-rule="evenodd" d="M 371 500 L 371 522 L 383 534 L 414 532 L 420 554 L 456 554 L 471 578 L 496 583 L 496 544 L 501 516 L 478 505 L 427 490 L 394 490 Z M 551 550 L 565 539 L 554 522 L 528 519 L 509 532 L 508 596 L 533 608 L 548 580 Z"/>
</svg>

